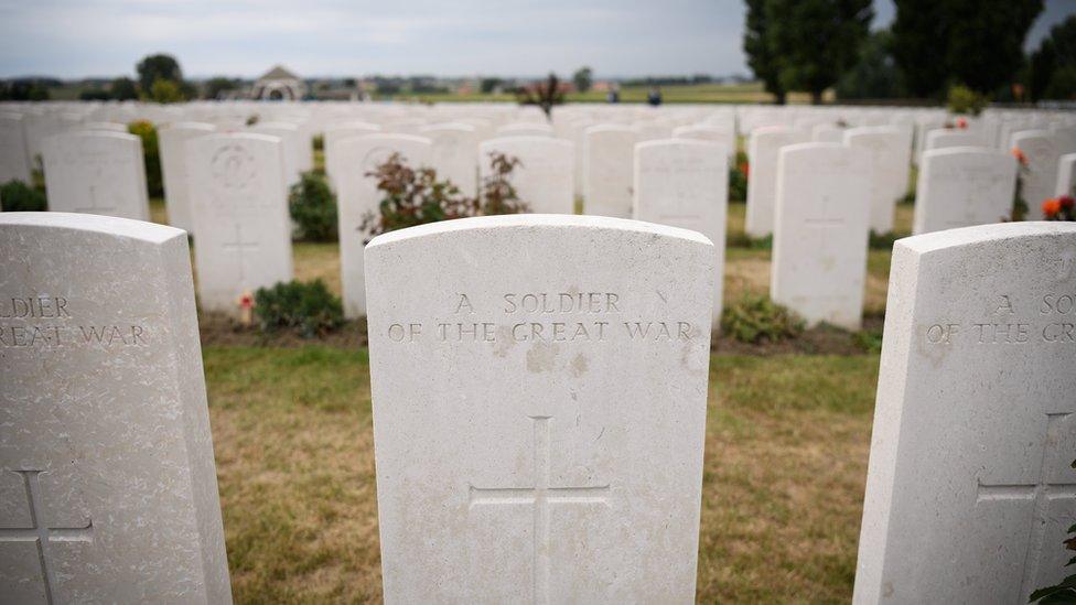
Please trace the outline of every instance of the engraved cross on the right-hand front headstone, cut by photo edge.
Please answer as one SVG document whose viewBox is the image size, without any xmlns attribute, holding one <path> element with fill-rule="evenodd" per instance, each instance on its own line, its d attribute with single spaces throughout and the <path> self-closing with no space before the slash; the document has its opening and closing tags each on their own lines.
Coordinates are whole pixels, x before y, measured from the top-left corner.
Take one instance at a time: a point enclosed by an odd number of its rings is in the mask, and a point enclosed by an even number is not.
<svg viewBox="0 0 1076 605">
<path fill-rule="evenodd" d="M 1031 536 L 1027 540 L 1027 550 L 1024 553 L 1024 574 L 1021 582 L 1020 594 L 1024 598 L 1039 587 L 1035 583 L 1039 580 L 1039 566 L 1046 538 L 1046 522 L 1050 520 L 1050 503 L 1063 498 L 1076 499 L 1076 482 L 1050 483 L 1050 469 L 1054 468 L 1057 456 L 1054 446 L 1061 440 L 1062 422 L 1067 415 L 1069 414 L 1046 414 L 1046 434 L 1043 440 L 1043 455 L 1039 463 L 1039 480 L 1036 483 L 987 485 L 979 480 L 976 494 L 976 503 L 999 500 L 1032 500 L 1035 503 L 1035 516 L 1032 519 Z"/>
</svg>

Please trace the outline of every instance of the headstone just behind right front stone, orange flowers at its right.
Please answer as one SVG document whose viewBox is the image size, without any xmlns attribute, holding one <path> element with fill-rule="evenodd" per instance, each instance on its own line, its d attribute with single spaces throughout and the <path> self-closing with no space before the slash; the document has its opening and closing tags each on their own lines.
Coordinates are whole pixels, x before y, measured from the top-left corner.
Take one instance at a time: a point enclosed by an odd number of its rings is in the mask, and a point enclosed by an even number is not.
<svg viewBox="0 0 1076 605">
<path fill-rule="evenodd" d="M 982 147 L 923 152 L 912 233 L 999 223 L 1012 216 L 1016 160 Z"/>
</svg>

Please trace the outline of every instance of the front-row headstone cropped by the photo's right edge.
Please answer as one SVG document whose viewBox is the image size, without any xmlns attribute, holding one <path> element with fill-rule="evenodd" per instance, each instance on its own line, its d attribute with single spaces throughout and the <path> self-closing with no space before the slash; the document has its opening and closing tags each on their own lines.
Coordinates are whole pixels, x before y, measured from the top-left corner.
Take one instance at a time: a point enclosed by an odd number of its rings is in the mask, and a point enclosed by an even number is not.
<svg viewBox="0 0 1076 605">
<path fill-rule="evenodd" d="M 1069 573 L 1076 226 L 896 242 L 854 603 L 1027 603 Z"/>
</svg>

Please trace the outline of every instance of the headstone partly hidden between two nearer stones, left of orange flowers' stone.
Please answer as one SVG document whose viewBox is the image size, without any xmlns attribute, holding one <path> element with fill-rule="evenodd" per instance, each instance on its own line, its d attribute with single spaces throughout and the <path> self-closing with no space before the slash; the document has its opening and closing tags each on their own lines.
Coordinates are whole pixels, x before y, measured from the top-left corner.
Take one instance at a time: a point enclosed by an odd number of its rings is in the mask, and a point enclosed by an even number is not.
<svg viewBox="0 0 1076 605">
<path fill-rule="evenodd" d="M 870 228 L 879 234 L 893 230 L 896 202 L 904 196 L 907 188 L 906 164 L 911 148 L 905 143 L 904 134 L 893 127 L 862 127 L 844 131 L 844 144 L 870 160 Z"/>
</svg>

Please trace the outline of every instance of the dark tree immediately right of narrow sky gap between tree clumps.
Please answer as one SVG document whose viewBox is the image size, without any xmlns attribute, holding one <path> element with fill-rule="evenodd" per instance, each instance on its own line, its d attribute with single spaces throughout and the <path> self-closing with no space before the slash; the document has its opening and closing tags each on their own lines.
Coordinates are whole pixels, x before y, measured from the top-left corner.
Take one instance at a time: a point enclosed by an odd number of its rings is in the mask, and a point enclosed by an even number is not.
<svg viewBox="0 0 1076 605">
<path fill-rule="evenodd" d="M 949 37 L 947 0 L 895 0 L 893 58 L 904 85 L 915 97 L 939 96 L 945 90 L 948 67 L 945 41 Z"/>
</svg>

